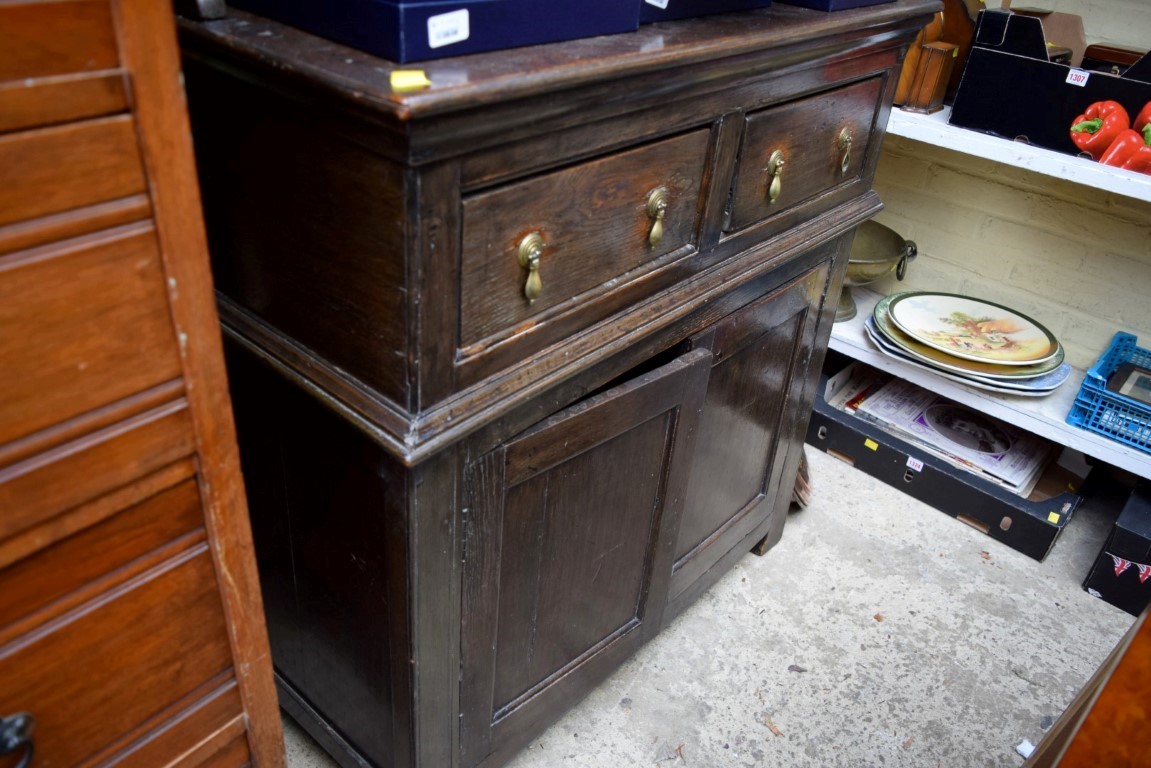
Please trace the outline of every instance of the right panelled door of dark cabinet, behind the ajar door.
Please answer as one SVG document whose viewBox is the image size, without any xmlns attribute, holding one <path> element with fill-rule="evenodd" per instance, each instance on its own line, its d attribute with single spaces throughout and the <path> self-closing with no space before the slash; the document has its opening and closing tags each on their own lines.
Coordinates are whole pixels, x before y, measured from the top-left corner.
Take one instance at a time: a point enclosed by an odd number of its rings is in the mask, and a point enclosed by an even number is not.
<svg viewBox="0 0 1151 768">
<path fill-rule="evenodd" d="M 698 584 L 701 577 L 749 534 L 763 535 L 775 470 L 787 449 L 780 426 L 802 389 L 826 275 L 826 266 L 809 272 L 692 340 L 711 351 L 712 367 L 676 543 L 672 603 L 706 588 L 710 580 Z"/>
</svg>

